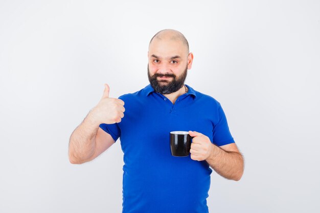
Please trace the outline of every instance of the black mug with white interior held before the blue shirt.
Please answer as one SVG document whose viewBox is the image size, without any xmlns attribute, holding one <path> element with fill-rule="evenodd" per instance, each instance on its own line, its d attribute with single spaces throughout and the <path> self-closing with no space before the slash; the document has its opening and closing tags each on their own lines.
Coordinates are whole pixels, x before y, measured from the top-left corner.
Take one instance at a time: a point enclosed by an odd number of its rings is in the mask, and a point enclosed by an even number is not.
<svg viewBox="0 0 320 213">
<path fill-rule="evenodd" d="M 186 131 L 170 132 L 171 155 L 177 157 L 189 156 L 192 138 Z"/>
</svg>

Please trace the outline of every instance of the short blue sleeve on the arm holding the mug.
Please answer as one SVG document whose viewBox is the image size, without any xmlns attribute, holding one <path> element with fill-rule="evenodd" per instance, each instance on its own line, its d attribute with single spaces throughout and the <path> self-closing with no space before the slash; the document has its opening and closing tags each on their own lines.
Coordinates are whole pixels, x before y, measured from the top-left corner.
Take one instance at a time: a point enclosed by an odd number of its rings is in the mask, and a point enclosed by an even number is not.
<svg viewBox="0 0 320 213">
<path fill-rule="evenodd" d="M 228 123 L 226 121 L 226 116 L 220 103 L 218 105 L 218 122 L 214 125 L 213 128 L 213 143 L 217 146 L 235 143 L 235 140 L 230 133 Z"/>
</svg>

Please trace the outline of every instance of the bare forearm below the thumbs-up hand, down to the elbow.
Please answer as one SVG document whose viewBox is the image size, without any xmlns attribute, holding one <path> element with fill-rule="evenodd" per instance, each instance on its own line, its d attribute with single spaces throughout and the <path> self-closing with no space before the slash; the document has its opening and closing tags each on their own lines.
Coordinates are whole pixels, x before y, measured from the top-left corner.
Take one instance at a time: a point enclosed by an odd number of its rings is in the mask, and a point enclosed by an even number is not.
<svg viewBox="0 0 320 213">
<path fill-rule="evenodd" d="M 91 115 L 92 110 L 70 136 L 69 159 L 72 163 L 86 162 L 95 152 L 95 137 L 99 124 Z"/>
</svg>

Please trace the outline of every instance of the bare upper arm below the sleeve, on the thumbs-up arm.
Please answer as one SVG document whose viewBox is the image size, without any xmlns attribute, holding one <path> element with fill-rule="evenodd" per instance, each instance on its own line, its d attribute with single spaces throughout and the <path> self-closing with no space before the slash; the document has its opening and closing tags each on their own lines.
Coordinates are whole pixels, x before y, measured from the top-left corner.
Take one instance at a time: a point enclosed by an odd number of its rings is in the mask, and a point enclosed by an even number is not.
<svg viewBox="0 0 320 213">
<path fill-rule="evenodd" d="M 89 160 L 93 160 L 98 157 L 101 153 L 111 147 L 112 144 L 115 144 L 115 140 L 111 137 L 110 134 L 106 133 L 99 127 L 95 137 L 95 152 Z"/>
</svg>

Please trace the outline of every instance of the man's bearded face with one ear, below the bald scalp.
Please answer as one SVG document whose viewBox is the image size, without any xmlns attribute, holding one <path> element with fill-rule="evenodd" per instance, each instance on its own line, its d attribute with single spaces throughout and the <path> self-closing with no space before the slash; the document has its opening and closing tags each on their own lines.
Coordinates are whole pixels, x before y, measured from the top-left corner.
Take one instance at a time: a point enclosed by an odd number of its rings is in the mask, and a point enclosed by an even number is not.
<svg viewBox="0 0 320 213">
<path fill-rule="evenodd" d="M 148 79 L 156 92 L 170 94 L 179 90 L 191 68 L 193 55 L 179 40 L 154 39 L 148 52 Z"/>
</svg>

